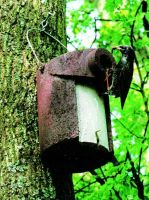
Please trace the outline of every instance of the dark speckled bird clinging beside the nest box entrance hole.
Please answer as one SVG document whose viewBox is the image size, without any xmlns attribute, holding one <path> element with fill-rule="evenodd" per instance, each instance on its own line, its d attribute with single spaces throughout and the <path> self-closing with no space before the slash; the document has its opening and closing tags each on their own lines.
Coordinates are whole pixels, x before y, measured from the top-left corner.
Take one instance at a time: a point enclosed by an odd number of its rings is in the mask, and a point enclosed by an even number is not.
<svg viewBox="0 0 149 200">
<path fill-rule="evenodd" d="M 113 47 L 112 52 L 114 50 L 119 50 L 122 54 L 122 57 L 118 64 L 113 68 L 112 83 L 109 89 L 109 95 L 114 95 L 115 98 L 120 97 L 121 107 L 123 109 L 133 77 L 135 52 L 131 46 L 122 45 Z"/>
</svg>

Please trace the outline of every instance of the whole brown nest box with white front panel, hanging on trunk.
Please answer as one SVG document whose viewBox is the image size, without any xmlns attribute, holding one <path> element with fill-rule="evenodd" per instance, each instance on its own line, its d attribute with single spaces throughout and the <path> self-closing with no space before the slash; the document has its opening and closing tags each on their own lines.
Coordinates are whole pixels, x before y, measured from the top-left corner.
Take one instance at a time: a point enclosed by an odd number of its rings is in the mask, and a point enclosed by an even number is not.
<svg viewBox="0 0 149 200">
<path fill-rule="evenodd" d="M 81 172 L 112 161 L 105 74 L 113 65 L 107 50 L 87 49 L 63 54 L 38 70 L 39 136 L 45 166 Z"/>
</svg>

